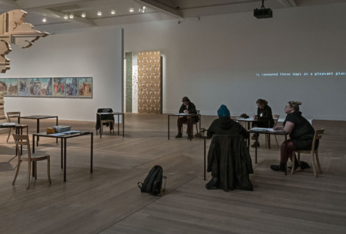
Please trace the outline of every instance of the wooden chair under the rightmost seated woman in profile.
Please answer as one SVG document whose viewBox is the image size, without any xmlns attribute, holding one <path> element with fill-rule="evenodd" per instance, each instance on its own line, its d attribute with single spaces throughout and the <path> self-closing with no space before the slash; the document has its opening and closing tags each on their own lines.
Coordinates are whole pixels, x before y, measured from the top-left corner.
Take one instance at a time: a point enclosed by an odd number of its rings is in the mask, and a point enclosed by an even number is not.
<svg viewBox="0 0 346 234">
<path fill-rule="evenodd" d="M 322 174 L 322 169 L 321 169 L 321 166 L 320 166 L 320 161 L 318 160 L 318 148 L 315 149 L 315 143 L 316 143 L 316 140 L 320 140 L 320 138 L 322 138 L 323 133 L 325 133 L 325 129 L 320 129 L 320 130 L 316 130 L 315 131 L 315 136 L 314 136 L 314 139 L 312 141 L 312 147 L 311 147 L 310 151 L 293 151 L 292 152 L 292 170 L 291 170 L 291 174 L 293 174 L 293 172 L 295 171 L 295 166 L 294 166 L 295 165 L 295 153 L 298 153 L 298 156 L 297 156 L 298 163 L 300 162 L 300 153 L 309 153 L 309 154 L 311 154 L 312 168 L 314 170 L 315 177 L 317 177 L 317 175 L 318 175 L 317 169 Z M 315 166 L 315 158 L 316 158 L 317 168 Z"/>
</svg>

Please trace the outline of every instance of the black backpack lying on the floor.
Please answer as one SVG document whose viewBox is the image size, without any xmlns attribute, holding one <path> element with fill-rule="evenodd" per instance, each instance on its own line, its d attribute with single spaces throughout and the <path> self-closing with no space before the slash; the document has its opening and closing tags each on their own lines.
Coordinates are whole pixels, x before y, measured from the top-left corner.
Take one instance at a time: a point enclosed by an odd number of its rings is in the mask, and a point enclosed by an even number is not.
<svg viewBox="0 0 346 234">
<path fill-rule="evenodd" d="M 163 169 L 161 166 L 153 166 L 151 171 L 144 182 L 138 182 L 138 187 L 141 188 L 142 193 L 150 193 L 151 195 L 158 195 L 161 192 Z M 141 184 L 141 185 L 139 185 Z"/>
</svg>

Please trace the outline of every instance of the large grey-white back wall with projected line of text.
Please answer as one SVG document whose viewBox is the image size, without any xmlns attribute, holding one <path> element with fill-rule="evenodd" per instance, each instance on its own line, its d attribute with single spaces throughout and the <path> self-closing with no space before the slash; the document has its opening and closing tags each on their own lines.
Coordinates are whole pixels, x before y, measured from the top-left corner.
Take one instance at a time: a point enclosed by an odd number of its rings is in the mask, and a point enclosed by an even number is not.
<svg viewBox="0 0 346 234">
<path fill-rule="evenodd" d="M 125 51 L 161 51 L 163 113 L 188 96 L 203 114 L 221 103 L 233 115 L 256 110 L 265 98 L 285 116 L 287 101 L 302 101 L 307 118 L 346 120 L 346 76 L 256 78 L 255 73 L 346 71 L 346 4 L 123 25 Z"/>
</svg>

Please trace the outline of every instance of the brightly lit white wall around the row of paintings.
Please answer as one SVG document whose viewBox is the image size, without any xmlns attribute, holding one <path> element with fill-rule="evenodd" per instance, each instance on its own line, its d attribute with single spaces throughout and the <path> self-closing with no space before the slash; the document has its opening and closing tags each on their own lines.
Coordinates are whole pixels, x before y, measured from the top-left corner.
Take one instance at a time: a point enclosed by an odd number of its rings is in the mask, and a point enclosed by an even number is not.
<svg viewBox="0 0 346 234">
<path fill-rule="evenodd" d="M 12 46 L 11 70 L 0 78 L 92 76 L 93 98 L 5 97 L 5 111 L 95 121 L 97 108 L 122 111 L 122 29 L 92 29 L 41 38 L 29 49 Z"/>
</svg>

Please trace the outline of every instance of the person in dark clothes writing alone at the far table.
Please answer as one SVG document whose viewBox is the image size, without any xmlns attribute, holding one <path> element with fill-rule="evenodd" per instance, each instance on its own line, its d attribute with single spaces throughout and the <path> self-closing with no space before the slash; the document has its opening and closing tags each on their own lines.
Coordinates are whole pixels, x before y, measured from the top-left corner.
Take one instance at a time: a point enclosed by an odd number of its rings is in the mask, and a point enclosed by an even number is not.
<svg viewBox="0 0 346 234">
<path fill-rule="evenodd" d="M 193 114 L 196 115 L 197 111 L 195 109 L 195 104 L 193 104 L 188 97 L 183 97 L 183 104 L 180 106 L 179 113 L 185 114 Z M 188 129 L 186 133 L 188 134 L 188 139 L 193 138 L 193 123 L 198 122 L 198 116 L 183 116 L 178 118 L 177 126 L 178 126 L 178 135 L 175 138 L 182 138 L 183 134 L 181 133 L 181 129 L 183 127 L 183 123 L 187 123 Z"/>
</svg>

